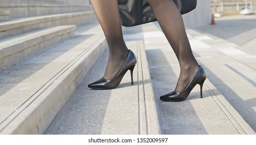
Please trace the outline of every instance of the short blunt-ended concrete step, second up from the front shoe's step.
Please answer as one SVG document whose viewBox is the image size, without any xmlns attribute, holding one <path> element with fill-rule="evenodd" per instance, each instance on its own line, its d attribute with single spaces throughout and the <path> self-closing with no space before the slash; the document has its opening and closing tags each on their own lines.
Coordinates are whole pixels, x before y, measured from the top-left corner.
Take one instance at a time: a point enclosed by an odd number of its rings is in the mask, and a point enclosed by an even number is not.
<svg viewBox="0 0 256 145">
<path fill-rule="evenodd" d="M 75 28 L 56 26 L 0 40 L 0 71 L 74 36 Z"/>
</svg>

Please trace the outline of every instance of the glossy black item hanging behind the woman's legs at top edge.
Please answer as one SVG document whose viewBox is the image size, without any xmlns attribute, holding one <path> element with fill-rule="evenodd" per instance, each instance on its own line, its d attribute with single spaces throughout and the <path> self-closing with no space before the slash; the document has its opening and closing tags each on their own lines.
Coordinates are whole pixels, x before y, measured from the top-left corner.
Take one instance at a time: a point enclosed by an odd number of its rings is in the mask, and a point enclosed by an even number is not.
<svg viewBox="0 0 256 145">
<path fill-rule="evenodd" d="M 192 11 L 197 4 L 197 0 L 173 1 L 181 14 Z M 118 8 L 123 26 L 136 26 L 157 21 L 150 4 L 146 0 L 118 0 Z"/>
</svg>

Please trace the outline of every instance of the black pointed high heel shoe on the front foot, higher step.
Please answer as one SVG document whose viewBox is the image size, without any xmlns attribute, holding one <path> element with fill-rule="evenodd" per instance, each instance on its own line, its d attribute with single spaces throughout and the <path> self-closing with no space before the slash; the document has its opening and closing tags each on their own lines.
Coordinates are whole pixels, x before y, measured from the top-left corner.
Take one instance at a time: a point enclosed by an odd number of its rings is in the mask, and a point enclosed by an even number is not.
<svg viewBox="0 0 256 145">
<path fill-rule="evenodd" d="M 133 69 L 136 63 L 137 63 L 136 56 L 131 50 L 129 50 L 125 63 L 120 69 L 120 71 L 118 72 L 118 74 L 116 75 L 116 77 L 110 80 L 104 79 L 103 77 L 98 81 L 89 84 L 88 87 L 91 89 L 98 89 L 98 90 L 114 89 L 119 85 L 119 83 L 121 82 L 125 73 L 128 70 L 130 70 L 131 72 L 131 85 L 133 85 Z"/>
</svg>

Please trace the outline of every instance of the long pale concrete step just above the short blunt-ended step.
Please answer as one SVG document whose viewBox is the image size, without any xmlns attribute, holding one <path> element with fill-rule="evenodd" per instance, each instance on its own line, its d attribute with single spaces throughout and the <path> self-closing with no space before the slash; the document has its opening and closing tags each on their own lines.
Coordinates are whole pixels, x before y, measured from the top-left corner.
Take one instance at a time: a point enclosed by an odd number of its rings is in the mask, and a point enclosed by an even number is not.
<svg viewBox="0 0 256 145">
<path fill-rule="evenodd" d="M 38 28 L 58 25 L 82 25 L 95 19 L 93 11 L 11 19 L 0 23 L 0 38 L 30 32 Z"/>
</svg>

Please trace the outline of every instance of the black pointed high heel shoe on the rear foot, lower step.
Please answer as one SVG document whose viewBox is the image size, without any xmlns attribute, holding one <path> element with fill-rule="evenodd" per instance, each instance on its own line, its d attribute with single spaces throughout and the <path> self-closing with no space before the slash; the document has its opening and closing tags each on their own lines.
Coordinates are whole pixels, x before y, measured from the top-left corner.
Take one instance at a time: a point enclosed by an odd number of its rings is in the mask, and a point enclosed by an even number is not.
<svg viewBox="0 0 256 145">
<path fill-rule="evenodd" d="M 191 80 L 191 82 L 187 85 L 184 91 L 171 92 L 164 96 L 160 96 L 160 99 L 164 101 L 183 101 L 187 98 L 187 96 L 190 94 L 190 92 L 192 91 L 192 89 L 195 87 L 196 84 L 200 85 L 201 98 L 203 98 L 202 90 L 203 90 L 203 84 L 206 78 L 207 78 L 207 74 L 205 69 L 202 66 L 199 66 L 199 69 L 197 70 L 196 75 Z"/>
</svg>

